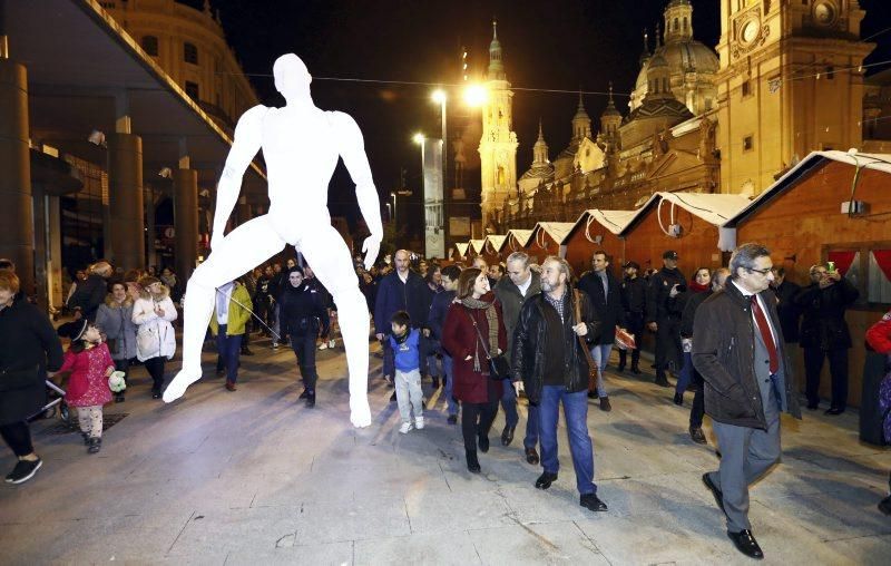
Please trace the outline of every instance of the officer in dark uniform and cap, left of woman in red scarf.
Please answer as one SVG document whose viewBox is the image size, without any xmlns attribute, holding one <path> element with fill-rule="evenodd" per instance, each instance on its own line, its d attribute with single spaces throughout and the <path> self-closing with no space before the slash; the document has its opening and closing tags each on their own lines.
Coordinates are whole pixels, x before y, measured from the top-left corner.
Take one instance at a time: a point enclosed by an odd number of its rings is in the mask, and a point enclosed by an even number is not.
<svg viewBox="0 0 891 566">
<path fill-rule="evenodd" d="M 656 333 L 656 384 L 669 387 L 665 370 L 681 367 L 681 315 L 677 296 L 687 290 L 687 280 L 677 269 L 677 252 L 662 254 L 663 267 L 649 279 L 647 328 Z"/>
</svg>

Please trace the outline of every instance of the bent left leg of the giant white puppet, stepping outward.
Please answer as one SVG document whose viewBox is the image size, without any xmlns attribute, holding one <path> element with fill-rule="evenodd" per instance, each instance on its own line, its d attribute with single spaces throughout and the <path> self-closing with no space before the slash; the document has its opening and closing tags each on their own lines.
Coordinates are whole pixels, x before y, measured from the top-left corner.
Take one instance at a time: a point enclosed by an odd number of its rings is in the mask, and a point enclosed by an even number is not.
<svg viewBox="0 0 891 566">
<path fill-rule="evenodd" d="M 183 299 L 183 369 L 164 391 L 166 402 L 179 399 L 202 378 L 202 345 L 214 313 L 216 287 L 244 275 L 284 246 L 268 217 L 260 216 L 228 233 L 198 265 Z"/>
</svg>

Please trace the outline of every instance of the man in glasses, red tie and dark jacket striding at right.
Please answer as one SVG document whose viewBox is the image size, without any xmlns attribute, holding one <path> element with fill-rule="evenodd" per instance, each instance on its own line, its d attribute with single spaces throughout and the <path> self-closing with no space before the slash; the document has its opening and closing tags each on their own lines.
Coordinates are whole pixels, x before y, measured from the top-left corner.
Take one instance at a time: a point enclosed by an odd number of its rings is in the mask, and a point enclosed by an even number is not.
<svg viewBox="0 0 891 566">
<path fill-rule="evenodd" d="M 717 471 L 703 475 L 724 511 L 727 536 L 751 558 L 764 553 L 748 523 L 748 486 L 780 460 L 780 414 L 801 418 L 776 300 L 767 291 L 771 252 L 743 244 L 724 291 L 696 310 L 693 365 L 705 381 L 705 412 L 721 446 Z"/>
</svg>

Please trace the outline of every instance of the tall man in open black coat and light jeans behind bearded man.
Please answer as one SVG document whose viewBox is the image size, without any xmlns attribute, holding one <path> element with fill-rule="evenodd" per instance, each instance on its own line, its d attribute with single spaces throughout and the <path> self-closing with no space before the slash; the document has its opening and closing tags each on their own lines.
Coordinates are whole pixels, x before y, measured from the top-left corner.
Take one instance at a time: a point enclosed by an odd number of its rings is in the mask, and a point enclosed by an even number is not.
<svg viewBox="0 0 891 566">
<path fill-rule="evenodd" d="M 625 311 L 621 308 L 621 287 L 618 280 L 609 272 L 609 256 L 603 250 L 591 255 L 593 271 L 585 273 L 578 281 L 579 291 L 588 294 L 594 305 L 594 314 L 600 321 L 600 335 L 591 342 L 591 358 L 598 365 L 599 378 L 594 389 L 588 389 L 588 398 L 600 399 L 600 410 L 611 411 L 609 396 L 604 386 L 604 371 L 616 341 L 616 326 L 625 328 Z"/>
</svg>

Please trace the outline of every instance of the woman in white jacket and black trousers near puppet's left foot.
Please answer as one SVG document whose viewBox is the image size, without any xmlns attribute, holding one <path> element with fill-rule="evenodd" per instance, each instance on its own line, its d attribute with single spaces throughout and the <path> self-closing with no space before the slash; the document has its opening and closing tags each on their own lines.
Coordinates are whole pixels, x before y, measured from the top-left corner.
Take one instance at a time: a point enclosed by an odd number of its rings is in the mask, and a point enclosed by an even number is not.
<svg viewBox="0 0 891 566">
<path fill-rule="evenodd" d="M 133 322 L 136 331 L 136 358 L 151 375 L 151 399 L 160 399 L 164 386 L 164 362 L 176 352 L 176 335 L 172 321 L 176 320 L 176 308 L 169 290 L 157 277 L 139 280 L 139 299 L 133 305 Z"/>
</svg>

